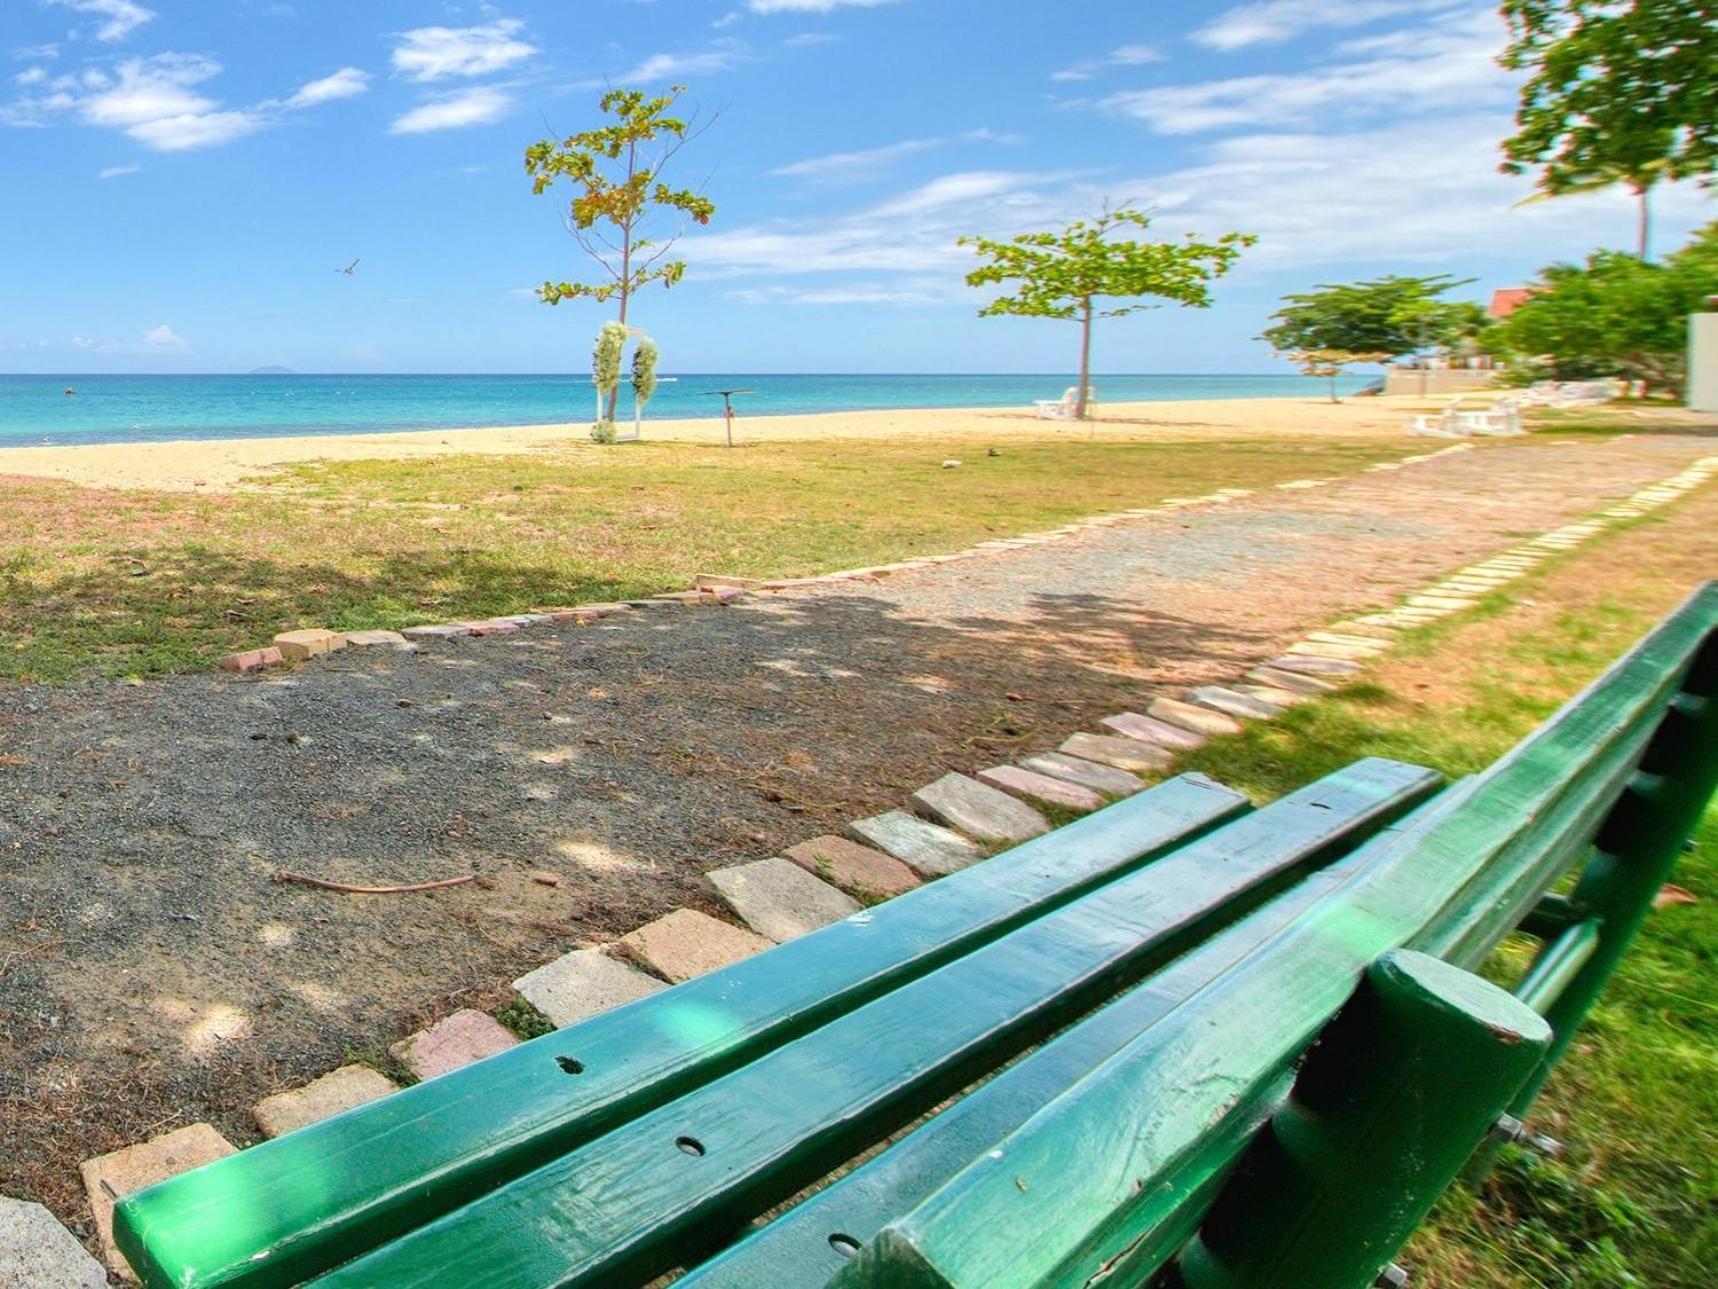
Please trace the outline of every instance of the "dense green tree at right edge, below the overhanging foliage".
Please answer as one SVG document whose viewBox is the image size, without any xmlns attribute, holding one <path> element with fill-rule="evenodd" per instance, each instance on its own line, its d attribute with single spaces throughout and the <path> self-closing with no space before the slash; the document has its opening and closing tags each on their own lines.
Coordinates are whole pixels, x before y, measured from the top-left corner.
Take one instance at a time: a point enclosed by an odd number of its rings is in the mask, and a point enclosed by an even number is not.
<svg viewBox="0 0 1718 1289">
<path fill-rule="evenodd" d="M 1558 378 L 1624 376 L 1682 395 L 1689 315 L 1718 294 L 1718 223 L 1685 247 L 1648 263 L 1594 251 L 1582 265 L 1551 265 L 1503 323 L 1503 339 Z"/>
</svg>

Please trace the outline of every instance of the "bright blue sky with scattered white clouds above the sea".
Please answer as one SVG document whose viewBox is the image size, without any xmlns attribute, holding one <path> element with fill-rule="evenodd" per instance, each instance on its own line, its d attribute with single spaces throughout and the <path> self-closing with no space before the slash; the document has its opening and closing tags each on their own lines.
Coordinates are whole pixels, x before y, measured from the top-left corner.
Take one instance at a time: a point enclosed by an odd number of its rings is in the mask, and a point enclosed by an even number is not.
<svg viewBox="0 0 1718 1289">
<path fill-rule="evenodd" d="M 1620 196 L 1517 206 L 1500 45 L 1469 0 L 0 0 L 0 371 L 582 370 L 606 311 L 533 299 L 584 265 L 521 158 L 605 81 L 720 110 L 677 160 L 716 218 L 634 315 L 668 371 L 1063 371 L 953 241 L 1105 198 L 1261 241 L 1100 370 L 1282 370 L 1287 290 L 1629 244 Z"/>
</svg>

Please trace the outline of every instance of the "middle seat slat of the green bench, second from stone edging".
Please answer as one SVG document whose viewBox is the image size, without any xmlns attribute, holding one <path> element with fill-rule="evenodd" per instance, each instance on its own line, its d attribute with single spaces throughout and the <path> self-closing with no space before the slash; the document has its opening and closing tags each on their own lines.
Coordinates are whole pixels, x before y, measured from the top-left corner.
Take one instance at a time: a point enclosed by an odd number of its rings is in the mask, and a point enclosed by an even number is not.
<svg viewBox="0 0 1718 1289">
<path fill-rule="evenodd" d="M 1349 852 L 1436 784 L 1392 761 L 1342 770 L 316 1284 L 644 1282 Z"/>
</svg>

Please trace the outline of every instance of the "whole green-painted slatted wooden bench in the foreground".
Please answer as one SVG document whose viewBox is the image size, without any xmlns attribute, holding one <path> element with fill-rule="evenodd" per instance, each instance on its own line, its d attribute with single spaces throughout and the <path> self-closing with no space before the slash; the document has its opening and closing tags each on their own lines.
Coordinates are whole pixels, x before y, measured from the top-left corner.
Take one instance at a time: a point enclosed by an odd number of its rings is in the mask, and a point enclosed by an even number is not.
<svg viewBox="0 0 1718 1289">
<path fill-rule="evenodd" d="M 1364 1286 L 1526 1114 L 1715 779 L 1708 584 L 1481 775 L 1172 779 L 115 1236 L 186 1289 Z M 1471 971 L 1517 928 L 1510 993 Z"/>
</svg>

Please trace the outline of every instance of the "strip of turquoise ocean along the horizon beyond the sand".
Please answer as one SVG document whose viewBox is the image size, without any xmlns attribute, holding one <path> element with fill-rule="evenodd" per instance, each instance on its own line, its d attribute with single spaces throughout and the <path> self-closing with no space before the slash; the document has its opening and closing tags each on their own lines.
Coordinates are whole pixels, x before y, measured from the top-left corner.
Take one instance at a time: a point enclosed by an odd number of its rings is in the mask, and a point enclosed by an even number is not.
<svg viewBox="0 0 1718 1289">
<path fill-rule="evenodd" d="M 715 390 L 725 388 L 749 390 L 734 399 L 739 416 L 783 416 L 1027 407 L 1060 397 L 1069 383 L 1065 375 L 680 375 L 658 385 L 649 419 L 720 416 Z M 1326 390 L 1323 380 L 1294 375 L 1096 376 L 1093 383 L 1103 402 L 1319 397 Z M 1354 376 L 1338 387 L 1352 392 L 1366 383 Z M 588 423 L 593 407 L 586 376 L 0 376 L 0 447 Z M 632 414 L 625 387 L 620 414 Z"/>
</svg>

